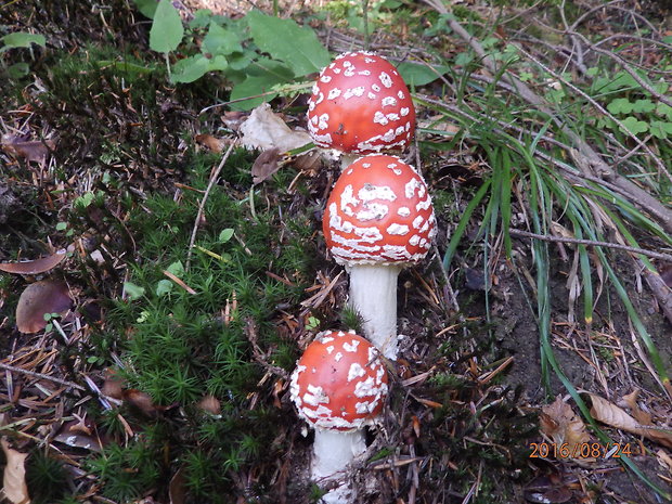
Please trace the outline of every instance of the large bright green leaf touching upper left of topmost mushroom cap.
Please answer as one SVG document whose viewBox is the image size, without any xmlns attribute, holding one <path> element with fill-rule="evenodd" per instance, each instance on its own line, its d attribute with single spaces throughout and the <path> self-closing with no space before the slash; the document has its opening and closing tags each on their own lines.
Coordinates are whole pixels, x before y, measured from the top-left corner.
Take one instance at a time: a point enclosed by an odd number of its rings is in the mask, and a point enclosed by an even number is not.
<svg viewBox="0 0 672 504">
<path fill-rule="evenodd" d="M 311 28 L 259 11 L 250 11 L 246 20 L 257 47 L 285 62 L 295 76 L 320 72 L 329 63 L 328 51 Z"/>
</svg>

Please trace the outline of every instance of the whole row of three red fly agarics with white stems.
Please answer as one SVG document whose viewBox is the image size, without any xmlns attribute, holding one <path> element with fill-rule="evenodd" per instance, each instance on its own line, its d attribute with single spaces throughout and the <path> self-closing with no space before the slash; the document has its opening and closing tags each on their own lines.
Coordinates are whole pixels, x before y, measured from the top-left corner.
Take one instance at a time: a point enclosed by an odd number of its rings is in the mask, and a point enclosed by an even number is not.
<svg viewBox="0 0 672 504">
<path fill-rule="evenodd" d="M 322 480 L 340 477 L 366 449 L 363 428 L 376 423 L 387 396 L 382 356 L 397 359 L 397 277 L 427 255 L 436 219 L 421 175 L 383 154 L 403 151 L 415 130 L 411 93 L 389 62 L 371 52 L 337 56 L 313 87 L 308 129 L 316 145 L 341 153 L 322 225 L 350 274 L 349 302 L 364 333 L 319 334 L 292 375 L 292 400 L 315 429 L 312 476 Z M 351 500 L 344 484 L 323 496 Z"/>
</svg>

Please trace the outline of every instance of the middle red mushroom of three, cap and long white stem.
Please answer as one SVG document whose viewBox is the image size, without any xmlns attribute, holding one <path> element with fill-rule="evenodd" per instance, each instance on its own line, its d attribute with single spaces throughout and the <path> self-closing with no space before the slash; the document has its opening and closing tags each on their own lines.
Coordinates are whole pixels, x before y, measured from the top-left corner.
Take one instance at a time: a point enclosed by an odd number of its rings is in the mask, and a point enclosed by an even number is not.
<svg viewBox="0 0 672 504">
<path fill-rule="evenodd" d="M 397 279 L 427 255 L 436 234 L 425 181 L 398 157 L 361 157 L 336 181 L 322 229 L 350 274 L 350 305 L 363 319 L 364 336 L 396 360 Z"/>
</svg>

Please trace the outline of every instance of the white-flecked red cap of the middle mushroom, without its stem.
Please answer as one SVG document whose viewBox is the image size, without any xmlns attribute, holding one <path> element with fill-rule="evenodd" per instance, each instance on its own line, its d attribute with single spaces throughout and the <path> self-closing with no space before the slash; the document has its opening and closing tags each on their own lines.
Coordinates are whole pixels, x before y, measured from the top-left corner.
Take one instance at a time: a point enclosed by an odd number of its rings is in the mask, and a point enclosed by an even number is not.
<svg viewBox="0 0 672 504">
<path fill-rule="evenodd" d="M 412 263 L 431 247 L 436 218 L 419 173 L 398 157 L 376 154 L 340 175 L 322 229 L 337 262 Z"/>
</svg>

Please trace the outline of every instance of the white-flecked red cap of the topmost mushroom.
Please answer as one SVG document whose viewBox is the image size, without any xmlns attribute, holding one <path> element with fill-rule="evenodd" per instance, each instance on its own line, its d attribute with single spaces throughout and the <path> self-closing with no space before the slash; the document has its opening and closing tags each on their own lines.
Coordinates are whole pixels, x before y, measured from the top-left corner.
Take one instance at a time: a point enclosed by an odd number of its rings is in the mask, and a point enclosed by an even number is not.
<svg viewBox="0 0 672 504">
<path fill-rule="evenodd" d="M 325 67 L 308 102 L 316 145 L 367 154 L 403 150 L 415 130 L 415 107 L 397 69 L 372 52 L 347 52 Z"/>
</svg>

